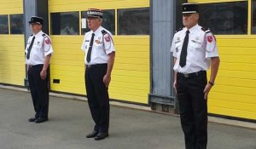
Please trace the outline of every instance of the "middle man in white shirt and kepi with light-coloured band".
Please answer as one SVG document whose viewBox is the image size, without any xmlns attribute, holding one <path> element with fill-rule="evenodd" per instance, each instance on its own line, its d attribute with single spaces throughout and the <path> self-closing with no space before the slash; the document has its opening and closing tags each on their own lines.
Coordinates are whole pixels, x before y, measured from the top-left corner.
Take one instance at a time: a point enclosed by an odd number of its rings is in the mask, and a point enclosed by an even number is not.
<svg viewBox="0 0 256 149">
<path fill-rule="evenodd" d="M 86 137 L 102 140 L 108 137 L 108 85 L 111 80 L 115 50 L 112 34 L 101 26 L 102 10 L 89 9 L 87 21 L 90 32 L 85 33 L 81 49 L 85 53 L 85 87 L 95 127 Z"/>
</svg>

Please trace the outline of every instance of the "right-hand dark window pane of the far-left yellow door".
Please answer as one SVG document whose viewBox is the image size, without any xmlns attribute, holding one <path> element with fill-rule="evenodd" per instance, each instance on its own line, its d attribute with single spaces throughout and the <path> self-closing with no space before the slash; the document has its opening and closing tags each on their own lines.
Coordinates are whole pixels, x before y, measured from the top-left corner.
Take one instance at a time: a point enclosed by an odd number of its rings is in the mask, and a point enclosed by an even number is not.
<svg viewBox="0 0 256 149">
<path fill-rule="evenodd" d="M 10 18 L 10 33 L 11 34 L 23 34 L 23 14 L 11 14 Z"/>
</svg>

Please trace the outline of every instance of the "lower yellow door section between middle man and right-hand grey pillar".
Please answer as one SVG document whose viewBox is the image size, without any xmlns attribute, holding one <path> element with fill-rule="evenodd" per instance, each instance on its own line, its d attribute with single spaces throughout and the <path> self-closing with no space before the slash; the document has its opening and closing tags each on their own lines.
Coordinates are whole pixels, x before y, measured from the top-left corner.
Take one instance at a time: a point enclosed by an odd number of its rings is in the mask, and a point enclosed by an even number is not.
<svg viewBox="0 0 256 149">
<path fill-rule="evenodd" d="M 114 99 L 148 103 L 149 37 L 117 36 L 110 95 Z"/>
</svg>

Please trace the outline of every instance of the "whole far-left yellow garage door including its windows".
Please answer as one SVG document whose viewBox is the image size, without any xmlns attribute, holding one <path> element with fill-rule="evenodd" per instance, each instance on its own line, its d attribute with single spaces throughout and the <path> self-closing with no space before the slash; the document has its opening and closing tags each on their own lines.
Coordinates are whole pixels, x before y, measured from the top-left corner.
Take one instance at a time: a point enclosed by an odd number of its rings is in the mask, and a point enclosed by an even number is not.
<svg viewBox="0 0 256 149">
<path fill-rule="evenodd" d="M 23 85 L 25 78 L 23 1 L 0 2 L 0 83 Z"/>
</svg>

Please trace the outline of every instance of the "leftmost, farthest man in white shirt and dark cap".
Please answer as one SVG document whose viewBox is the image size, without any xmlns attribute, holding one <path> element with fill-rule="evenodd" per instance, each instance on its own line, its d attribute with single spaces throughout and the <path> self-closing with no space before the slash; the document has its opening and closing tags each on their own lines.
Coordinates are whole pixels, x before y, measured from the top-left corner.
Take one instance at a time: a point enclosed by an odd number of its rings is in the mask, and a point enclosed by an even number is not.
<svg viewBox="0 0 256 149">
<path fill-rule="evenodd" d="M 49 112 L 49 60 L 53 49 L 50 38 L 42 32 L 44 19 L 33 16 L 29 21 L 32 36 L 26 44 L 26 65 L 29 87 L 35 116 L 29 122 L 44 123 L 48 121 Z"/>
</svg>

